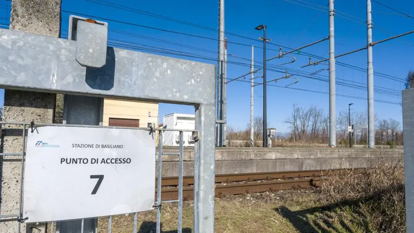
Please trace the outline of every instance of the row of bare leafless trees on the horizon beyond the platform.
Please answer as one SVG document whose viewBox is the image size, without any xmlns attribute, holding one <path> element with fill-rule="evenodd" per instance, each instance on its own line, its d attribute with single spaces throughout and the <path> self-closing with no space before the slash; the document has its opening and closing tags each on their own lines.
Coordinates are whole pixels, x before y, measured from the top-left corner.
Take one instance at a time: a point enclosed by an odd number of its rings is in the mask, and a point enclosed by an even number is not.
<svg viewBox="0 0 414 233">
<path fill-rule="evenodd" d="M 351 123 L 356 125 L 366 125 L 368 122 L 368 113 L 351 112 Z M 377 115 L 374 116 L 377 121 L 376 142 L 383 145 L 402 145 L 403 134 L 400 130 L 400 122 L 395 119 L 382 119 L 378 121 Z M 293 105 L 291 116 L 287 117 L 284 123 L 288 124 L 291 130 L 288 140 L 301 143 L 327 144 L 329 142 L 329 115 L 325 114 L 322 109 L 311 106 L 308 108 Z M 337 138 L 338 145 L 348 144 L 348 111 L 340 112 L 337 116 Z M 244 131 L 237 131 L 228 126 L 229 140 L 242 140 L 248 146 L 250 125 Z M 231 135 L 230 135 L 231 134 Z M 254 118 L 254 137 L 255 141 L 263 140 L 263 118 Z M 237 138 L 237 139 L 236 139 Z M 356 137 L 359 143 L 366 141 L 366 130 L 361 130 L 360 137 Z M 281 139 L 283 140 L 283 139 Z M 260 143 L 256 144 L 260 146 Z"/>
</svg>

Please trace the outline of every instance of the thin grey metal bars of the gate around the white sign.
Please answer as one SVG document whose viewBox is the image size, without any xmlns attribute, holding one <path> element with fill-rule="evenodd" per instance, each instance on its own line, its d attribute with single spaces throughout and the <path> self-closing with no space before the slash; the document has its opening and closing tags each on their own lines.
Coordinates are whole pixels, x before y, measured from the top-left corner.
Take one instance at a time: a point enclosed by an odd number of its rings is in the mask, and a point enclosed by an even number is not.
<svg viewBox="0 0 414 233">
<path fill-rule="evenodd" d="M 8 157 L 19 157 L 21 170 L 20 170 L 20 192 L 19 192 L 19 213 L 11 213 L 11 214 L 5 214 L 0 215 L 0 222 L 6 222 L 6 221 L 17 221 L 18 222 L 18 231 L 17 233 L 20 233 L 21 230 L 21 223 L 24 223 L 26 218 L 23 215 L 23 184 L 24 184 L 24 166 L 25 166 L 25 157 L 26 157 L 26 137 L 30 132 L 33 133 L 36 126 L 62 126 L 62 127 L 100 127 L 100 128 L 119 128 L 119 129 L 141 129 L 141 130 L 147 130 L 149 134 L 152 134 L 153 137 L 158 134 L 158 153 L 157 155 L 157 188 L 156 188 L 156 204 L 154 207 L 154 210 L 157 211 L 157 217 L 156 217 L 156 233 L 161 233 L 161 208 L 164 203 L 178 203 L 178 224 L 177 224 L 177 233 L 182 233 L 182 208 L 183 208 L 183 153 L 184 153 L 184 138 L 183 138 L 183 132 L 192 132 L 193 137 L 197 137 L 197 134 L 195 133 L 195 130 L 180 130 L 180 129 L 153 129 L 150 128 L 138 128 L 138 127 L 116 127 L 116 126 L 95 126 L 95 125 L 76 125 L 76 124 L 35 124 L 34 122 L 31 123 L 24 123 L 24 122 L 4 122 L 0 121 L 0 125 L 2 130 L 4 129 L 4 125 L 21 125 L 21 137 L 22 137 L 22 152 L 15 152 L 15 153 L 0 153 L 0 156 L 2 156 L 3 160 L 7 159 Z M 24 130 L 23 130 L 24 129 Z M 178 153 L 163 153 L 162 145 L 163 145 L 163 132 L 164 131 L 178 131 L 179 132 L 179 147 L 178 147 Z M 7 132 L 3 131 L 2 137 L 7 136 Z M 197 138 L 195 138 L 197 140 Z M 174 155 L 178 156 L 178 199 L 176 200 L 166 200 L 162 201 L 162 157 L 163 155 Z M 197 167 L 195 168 L 194 174 L 198 174 Z M 195 182 L 197 179 L 195 179 Z M 154 174 L 154 182 L 155 182 L 155 174 Z M 194 184 L 194 191 L 198 192 L 198 185 Z M 195 198 L 194 205 L 197 206 L 198 202 Z M 133 222 L 131 223 L 133 226 L 133 233 L 137 233 L 137 227 L 138 227 L 138 213 L 131 213 L 134 214 Z M 83 226 L 84 226 L 85 219 L 82 219 L 81 222 L 81 233 L 83 233 Z M 55 226 L 54 222 L 46 223 L 47 226 L 49 226 L 49 230 L 47 232 L 50 233 L 61 233 L 59 227 Z M 97 232 L 97 225 L 95 231 Z M 112 216 L 108 216 L 108 233 L 111 233 L 112 231 Z"/>
</svg>

